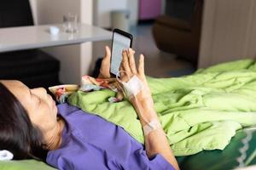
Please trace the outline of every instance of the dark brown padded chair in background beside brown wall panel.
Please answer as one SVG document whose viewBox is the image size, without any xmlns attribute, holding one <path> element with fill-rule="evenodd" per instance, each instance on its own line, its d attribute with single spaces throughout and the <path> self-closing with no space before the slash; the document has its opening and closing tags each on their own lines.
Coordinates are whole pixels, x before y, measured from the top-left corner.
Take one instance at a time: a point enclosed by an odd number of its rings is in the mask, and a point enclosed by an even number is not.
<svg viewBox="0 0 256 170">
<path fill-rule="evenodd" d="M 177 54 L 197 64 L 201 37 L 203 0 L 195 0 L 191 20 L 178 20 L 161 15 L 155 20 L 153 37 L 156 46 L 163 51 Z"/>
</svg>

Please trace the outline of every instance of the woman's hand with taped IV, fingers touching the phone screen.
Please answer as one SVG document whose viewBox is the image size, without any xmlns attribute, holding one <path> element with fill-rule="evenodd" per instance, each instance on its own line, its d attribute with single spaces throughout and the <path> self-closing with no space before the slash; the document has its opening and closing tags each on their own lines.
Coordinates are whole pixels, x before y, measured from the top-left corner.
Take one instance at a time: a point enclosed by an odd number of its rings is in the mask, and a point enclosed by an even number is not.
<svg viewBox="0 0 256 170">
<path fill-rule="evenodd" d="M 128 82 L 133 76 L 137 76 L 142 82 L 141 91 L 135 96 L 131 96 L 131 104 L 137 110 L 137 114 L 143 125 L 150 122 L 152 119 L 157 119 L 157 115 L 154 111 L 154 102 L 148 88 L 148 82 L 144 73 L 144 56 L 140 55 L 138 69 L 134 59 L 135 51 L 130 49 L 123 50 L 123 60 L 120 66 L 121 80 Z M 122 73 L 125 72 L 125 73 Z M 147 120 L 142 120 L 147 119 Z"/>
</svg>

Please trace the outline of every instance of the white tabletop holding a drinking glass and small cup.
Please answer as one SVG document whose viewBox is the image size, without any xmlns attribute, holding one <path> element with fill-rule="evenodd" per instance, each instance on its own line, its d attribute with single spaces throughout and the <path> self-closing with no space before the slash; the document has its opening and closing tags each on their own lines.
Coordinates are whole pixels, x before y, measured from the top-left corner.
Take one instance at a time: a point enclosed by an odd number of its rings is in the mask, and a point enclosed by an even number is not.
<svg viewBox="0 0 256 170">
<path fill-rule="evenodd" d="M 51 35 L 50 26 L 58 27 L 59 33 Z M 78 24 L 78 31 L 75 33 L 63 31 L 61 24 L 0 28 L 0 52 L 104 41 L 111 38 L 111 31 L 86 24 Z"/>
</svg>

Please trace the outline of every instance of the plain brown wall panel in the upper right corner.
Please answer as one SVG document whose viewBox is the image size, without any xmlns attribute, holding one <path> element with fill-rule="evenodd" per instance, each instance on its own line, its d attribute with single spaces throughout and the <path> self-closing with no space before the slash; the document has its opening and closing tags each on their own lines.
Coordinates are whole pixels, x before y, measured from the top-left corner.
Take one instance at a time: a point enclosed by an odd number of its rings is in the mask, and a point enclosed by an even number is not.
<svg viewBox="0 0 256 170">
<path fill-rule="evenodd" d="M 255 0 L 205 0 L 199 67 L 255 58 Z"/>
</svg>

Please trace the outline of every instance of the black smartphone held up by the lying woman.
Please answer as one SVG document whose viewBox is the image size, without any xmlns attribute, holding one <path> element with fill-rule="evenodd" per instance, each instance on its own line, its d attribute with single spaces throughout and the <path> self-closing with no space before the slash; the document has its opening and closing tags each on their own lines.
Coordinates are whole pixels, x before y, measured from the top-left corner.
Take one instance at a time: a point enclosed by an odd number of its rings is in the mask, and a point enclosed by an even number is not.
<svg viewBox="0 0 256 170">
<path fill-rule="evenodd" d="M 132 35 L 128 32 L 119 29 L 113 29 L 112 49 L 111 49 L 111 62 L 110 73 L 115 76 L 119 72 L 119 66 L 122 62 L 123 49 L 131 48 Z"/>
</svg>

